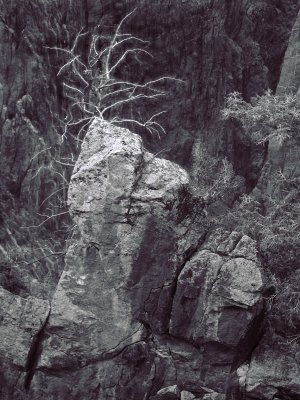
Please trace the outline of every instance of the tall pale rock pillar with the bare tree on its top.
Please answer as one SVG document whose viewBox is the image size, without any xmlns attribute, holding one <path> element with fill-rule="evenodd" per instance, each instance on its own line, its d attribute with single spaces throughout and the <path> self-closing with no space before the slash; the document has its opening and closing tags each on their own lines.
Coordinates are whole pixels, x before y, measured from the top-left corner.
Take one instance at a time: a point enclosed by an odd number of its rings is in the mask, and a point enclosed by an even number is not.
<svg viewBox="0 0 300 400">
<path fill-rule="evenodd" d="M 111 357 L 145 338 L 143 321 L 160 329 L 176 272 L 169 205 L 187 183 L 180 167 L 145 152 L 138 135 L 100 120 L 91 126 L 69 188 L 80 239 L 52 300 L 40 368 Z"/>
</svg>

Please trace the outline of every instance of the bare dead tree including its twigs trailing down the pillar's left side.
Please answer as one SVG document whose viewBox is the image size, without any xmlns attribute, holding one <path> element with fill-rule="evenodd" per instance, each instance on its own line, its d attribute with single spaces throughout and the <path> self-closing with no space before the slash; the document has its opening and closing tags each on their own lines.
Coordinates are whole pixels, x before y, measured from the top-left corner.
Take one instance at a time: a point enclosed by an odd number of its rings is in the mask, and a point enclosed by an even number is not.
<svg viewBox="0 0 300 400">
<path fill-rule="evenodd" d="M 57 75 L 61 79 L 63 94 L 69 99 L 65 110 L 62 141 L 68 140 L 66 147 L 68 154 L 59 160 L 53 160 L 49 168 L 56 165 L 64 168 L 73 167 L 77 158 L 78 149 L 74 142 L 81 142 L 91 123 L 99 118 L 117 125 L 134 126 L 146 130 L 152 135 L 160 137 L 165 133 L 160 116 L 164 110 L 151 113 L 144 106 L 165 95 L 166 81 L 182 82 L 170 76 L 161 76 L 154 80 L 141 83 L 142 74 L 132 76 L 132 65 L 138 70 L 149 57 L 146 41 L 130 33 L 124 32 L 124 25 L 134 11 L 125 15 L 113 29 L 105 23 L 97 25 L 92 31 L 81 29 L 74 41 L 67 48 L 47 47 L 51 51 L 64 56 Z M 142 107 L 142 112 L 141 112 Z M 50 204 L 47 214 L 41 214 L 44 219 L 40 227 L 52 219 L 67 214 L 66 192 L 68 180 L 59 174 L 62 179 L 62 188 L 51 193 L 43 201 Z M 52 200 L 57 200 L 58 207 L 52 207 Z"/>
</svg>

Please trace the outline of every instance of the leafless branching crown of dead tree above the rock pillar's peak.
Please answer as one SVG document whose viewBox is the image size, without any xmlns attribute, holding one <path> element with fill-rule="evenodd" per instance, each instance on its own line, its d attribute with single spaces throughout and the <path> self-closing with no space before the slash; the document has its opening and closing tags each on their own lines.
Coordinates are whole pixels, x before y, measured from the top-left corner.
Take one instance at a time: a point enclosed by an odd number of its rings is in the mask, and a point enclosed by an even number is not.
<svg viewBox="0 0 300 400">
<path fill-rule="evenodd" d="M 158 121 L 165 111 L 160 110 L 143 118 L 134 112 L 134 108 L 143 100 L 153 102 L 164 96 L 164 81 L 180 80 L 162 76 L 140 83 L 138 76 L 136 81 L 118 78 L 121 68 L 122 76 L 126 75 L 124 70 L 129 58 L 130 62 L 139 65 L 145 56 L 152 57 L 146 50 L 146 41 L 122 31 L 133 12 L 121 20 L 112 36 L 103 34 L 101 26 L 97 26 L 94 33 L 80 31 L 70 49 L 52 47 L 66 55 L 65 63 L 58 71 L 58 76 L 63 77 L 65 95 L 71 100 L 64 122 L 64 135 L 75 127 L 80 138 L 95 118 L 116 124 L 137 125 L 158 136 L 165 133 Z"/>
</svg>

